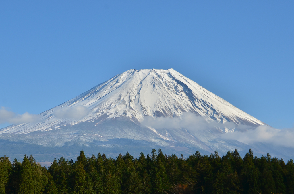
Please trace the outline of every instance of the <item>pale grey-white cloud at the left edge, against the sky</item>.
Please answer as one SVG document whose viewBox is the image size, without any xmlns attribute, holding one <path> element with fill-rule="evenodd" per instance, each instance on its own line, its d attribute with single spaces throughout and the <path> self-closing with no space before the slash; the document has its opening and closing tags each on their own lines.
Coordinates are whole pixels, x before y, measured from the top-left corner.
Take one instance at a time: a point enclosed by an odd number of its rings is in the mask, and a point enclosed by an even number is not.
<svg viewBox="0 0 294 194">
<path fill-rule="evenodd" d="M 28 112 L 20 115 L 16 114 L 6 108 L 1 107 L 0 109 L 0 124 L 10 123 L 10 124 L 20 124 L 26 122 L 36 122 L 40 119 L 40 115 L 30 114 Z"/>
</svg>

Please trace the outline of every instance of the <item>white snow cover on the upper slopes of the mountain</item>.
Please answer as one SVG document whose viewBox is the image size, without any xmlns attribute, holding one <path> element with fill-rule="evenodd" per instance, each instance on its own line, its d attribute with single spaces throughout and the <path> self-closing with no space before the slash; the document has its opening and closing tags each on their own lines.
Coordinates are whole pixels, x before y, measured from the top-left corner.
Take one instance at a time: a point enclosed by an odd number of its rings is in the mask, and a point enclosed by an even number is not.
<svg viewBox="0 0 294 194">
<path fill-rule="evenodd" d="M 60 112 L 85 112 L 82 118 Z M 141 122 L 144 116 L 180 117 L 192 112 L 220 123 L 264 125 L 173 69 L 131 69 L 59 106 L 41 113 L 36 123 L 12 125 L 0 133 L 27 134 L 82 122 L 125 117 Z"/>
</svg>

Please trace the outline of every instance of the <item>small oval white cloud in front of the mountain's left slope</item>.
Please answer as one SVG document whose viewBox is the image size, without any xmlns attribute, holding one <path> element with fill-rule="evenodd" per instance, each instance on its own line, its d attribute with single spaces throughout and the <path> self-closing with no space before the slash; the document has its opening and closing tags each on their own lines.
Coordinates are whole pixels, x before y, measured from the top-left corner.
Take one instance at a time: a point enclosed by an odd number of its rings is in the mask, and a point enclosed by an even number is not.
<svg viewBox="0 0 294 194">
<path fill-rule="evenodd" d="M 90 109 L 82 105 L 66 106 L 54 111 L 54 115 L 59 119 L 75 119 L 79 120 L 88 115 Z"/>
</svg>

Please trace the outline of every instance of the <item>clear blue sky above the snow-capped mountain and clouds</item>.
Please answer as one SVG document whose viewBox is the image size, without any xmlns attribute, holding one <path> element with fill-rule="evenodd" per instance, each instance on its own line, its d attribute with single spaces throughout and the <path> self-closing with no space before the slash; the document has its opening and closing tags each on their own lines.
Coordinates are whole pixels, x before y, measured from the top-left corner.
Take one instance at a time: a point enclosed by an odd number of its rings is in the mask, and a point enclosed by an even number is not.
<svg viewBox="0 0 294 194">
<path fill-rule="evenodd" d="M 0 106 L 39 114 L 128 69 L 173 68 L 268 125 L 293 127 L 293 10 L 268 0 L 1 1 Z"/>
</svg>

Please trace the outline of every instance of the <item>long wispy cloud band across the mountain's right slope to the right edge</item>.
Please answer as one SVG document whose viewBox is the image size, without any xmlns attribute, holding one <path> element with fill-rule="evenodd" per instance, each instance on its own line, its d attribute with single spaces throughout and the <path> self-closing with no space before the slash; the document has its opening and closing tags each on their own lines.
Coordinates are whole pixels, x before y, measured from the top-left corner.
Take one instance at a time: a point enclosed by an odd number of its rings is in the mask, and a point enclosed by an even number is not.
<svg viewBox="0 0 294 194">
<path fill-rule="evenodd" d="M 152 127 L 154 129 L 177 129 L 186 128 L 189 131 L 210 130 L 219 128 L 224 131 L 234 129 L 234 132 L 222 133 L 221 139 L 234 139 L 245 144 L 255 142 L 270 143 L 279 146 L 294 147 L 294 128 L 292 129 L 275 129 L 268 125 L 252 127 L 247 125 L 235 125 L 231 122 L 219 123 L 217 121 L 206 121 L 201 116 L 193 113 L 183 113 L 179 118 L 158 117 L 152 118 L 147 116 L 141 125 Z"/>
</svg>

